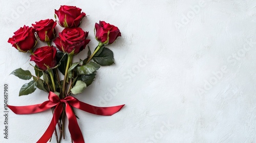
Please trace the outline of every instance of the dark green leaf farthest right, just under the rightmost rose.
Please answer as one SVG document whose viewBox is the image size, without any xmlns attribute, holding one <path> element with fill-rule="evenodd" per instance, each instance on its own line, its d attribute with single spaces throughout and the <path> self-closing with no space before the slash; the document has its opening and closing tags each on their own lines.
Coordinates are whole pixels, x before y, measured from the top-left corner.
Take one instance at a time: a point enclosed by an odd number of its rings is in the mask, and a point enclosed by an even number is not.
<svg viewBox="0 0 256 143">
<path fill-rule="evenodd" d="M 99 65 L 112 65 L 114 63 L 114 54 L 113 52 L 103 47 L 102 52 L 98 56 L 94 56 L 93 60 Z"/>
</svg>

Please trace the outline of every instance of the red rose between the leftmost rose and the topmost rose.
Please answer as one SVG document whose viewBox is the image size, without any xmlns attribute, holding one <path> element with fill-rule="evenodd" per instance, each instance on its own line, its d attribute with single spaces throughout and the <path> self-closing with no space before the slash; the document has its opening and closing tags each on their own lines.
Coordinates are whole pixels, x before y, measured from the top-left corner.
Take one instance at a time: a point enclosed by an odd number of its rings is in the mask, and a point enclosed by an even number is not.
<svg viewBox="0 0 256 143">
<path fill-rule="evenodd" d="M 40 20 L 35 22 L 35 24 L 32 24 L 39 39 L 45 42 L 49 42 L 54 39 L 56 35 L 54 28 L 56 25 L 57 22 L 53 21 L 53 19 Z"/>
</svg>

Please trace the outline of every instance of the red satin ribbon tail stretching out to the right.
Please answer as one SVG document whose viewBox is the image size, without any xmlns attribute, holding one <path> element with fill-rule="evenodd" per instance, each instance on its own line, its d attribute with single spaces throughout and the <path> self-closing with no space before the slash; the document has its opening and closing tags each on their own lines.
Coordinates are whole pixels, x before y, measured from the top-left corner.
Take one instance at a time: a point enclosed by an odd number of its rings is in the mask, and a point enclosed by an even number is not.
<svg viewBox="0 0 256 143">
<path fill-rule="evenodd" d="M 69 105 L 78 108 L 80 110 L 96 114 L 96 115 L 113 115 L 123 108 L 123 105 L 111 106 L 111 107 L 97 107 L 84 102 L 81 102 L 74 98 L 74 100 L 68 101 Z"/>
</svg>

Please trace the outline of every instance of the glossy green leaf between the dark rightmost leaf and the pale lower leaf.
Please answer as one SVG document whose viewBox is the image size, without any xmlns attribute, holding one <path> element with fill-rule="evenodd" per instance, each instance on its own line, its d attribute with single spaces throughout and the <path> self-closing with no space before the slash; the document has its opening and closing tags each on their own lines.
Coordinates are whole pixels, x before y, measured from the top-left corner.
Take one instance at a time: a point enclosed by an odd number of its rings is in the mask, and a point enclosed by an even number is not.
<svg viewBox="0 0 256 143">
<path fill-rule="evenodd" d="M 99 65 L 95 62 L 89 62 L 86 65 L 77 66 L 76 71 L 78 75 L 90 75 L 93 74 L 97 69 L 99 69 Z"/>
</svg>

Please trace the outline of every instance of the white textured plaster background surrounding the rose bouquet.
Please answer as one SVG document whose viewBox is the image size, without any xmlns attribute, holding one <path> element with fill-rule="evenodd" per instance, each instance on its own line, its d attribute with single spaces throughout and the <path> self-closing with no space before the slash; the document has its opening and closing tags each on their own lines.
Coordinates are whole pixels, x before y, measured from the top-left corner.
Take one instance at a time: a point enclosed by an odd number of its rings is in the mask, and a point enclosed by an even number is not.
<svg viewBox="0 0 256 143">
<path fill-rule="evenodd" d="M 256 1 L 0 2 L 0 142 L 36 142 L 50 123 L 50 110 L 10 112 L 4 139 L 3 85 L 9 83 L 10 105 L 48 100 L 38 89 L 18 97 L 27 81 L 9 74 L 19 67 L 33 71 L 32 62 L 7 40 L 23 25 L 54 18 L 60 5 L 89 15 L 81 28 L 89 31 L 91 49 L 95 22 L 105 20 L 122 33 L 108 46 L 116 64 L 101 67 L 76 97 L 96 106 L 126 106 L 113 116 L 76 110 L 86 142 L 256 142 Z M 68 128 L 66 136 L 63 142 L 70 142 Z"/>
</svg>

